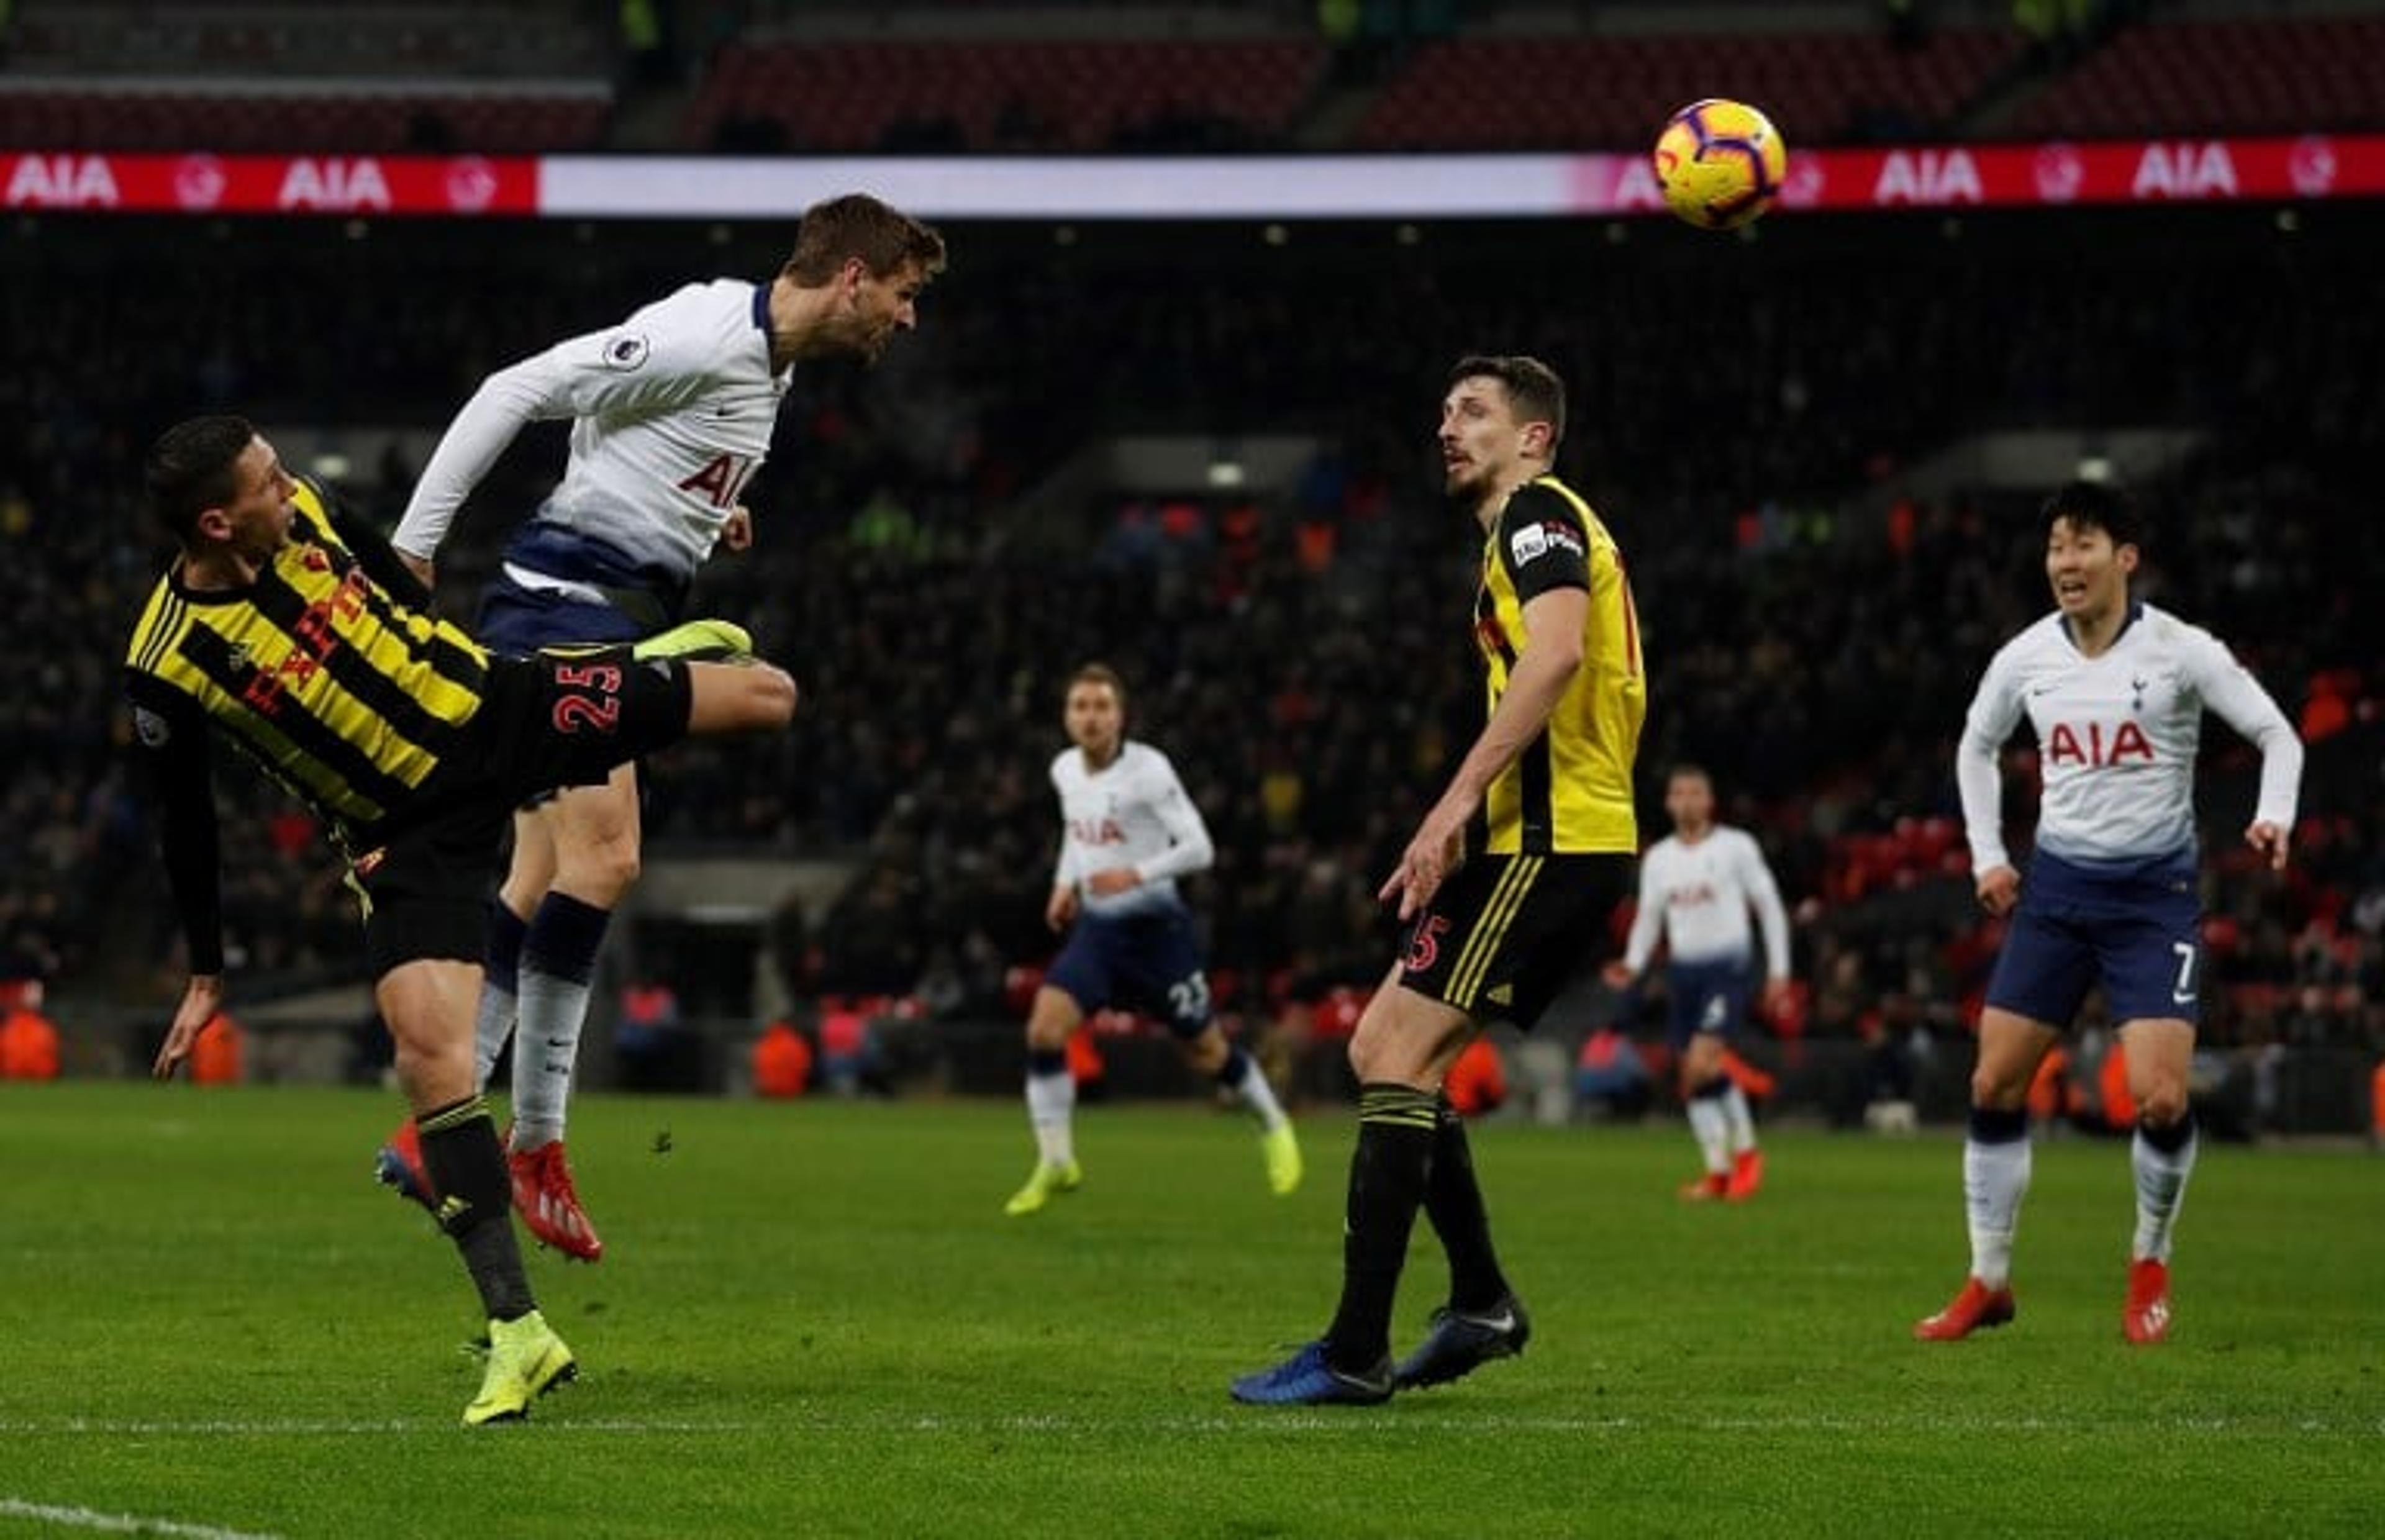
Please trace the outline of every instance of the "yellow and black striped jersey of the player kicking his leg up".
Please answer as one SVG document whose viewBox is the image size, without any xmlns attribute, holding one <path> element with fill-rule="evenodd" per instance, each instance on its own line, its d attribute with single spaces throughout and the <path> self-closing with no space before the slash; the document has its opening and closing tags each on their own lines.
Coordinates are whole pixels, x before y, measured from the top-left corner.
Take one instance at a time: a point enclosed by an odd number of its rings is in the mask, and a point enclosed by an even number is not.
<svg viewBox="0 0 2385 1540">
<path fill-rule="evenodd" d="M 377 536 L 374 582 L 322 491 L 301 482 L 291 503 L 289 544 L 246 589 L 188 589 L 181 563 L 157 579 L 126 694 L 150 749 L 222 729 L 353 842 L 460 749 L 489 653 L 391 594 L 405 579 L 386 575 Z"/>
</svg>

